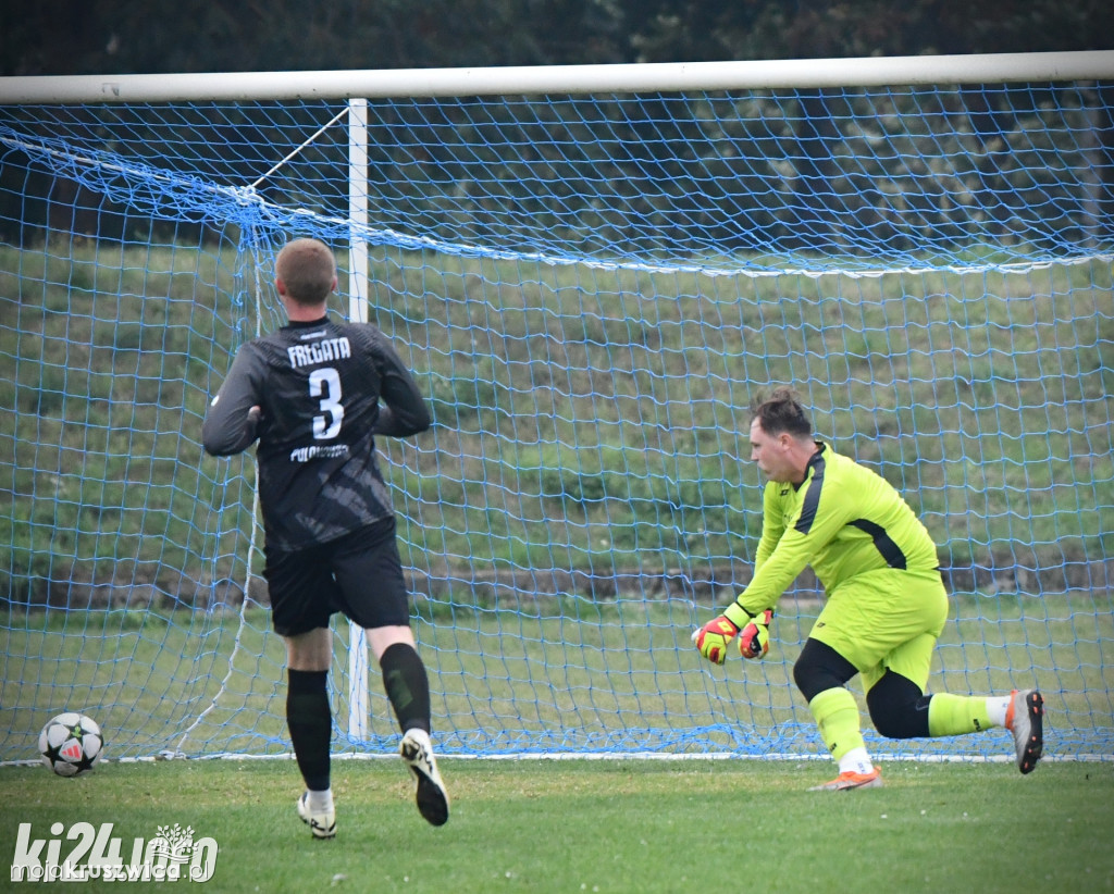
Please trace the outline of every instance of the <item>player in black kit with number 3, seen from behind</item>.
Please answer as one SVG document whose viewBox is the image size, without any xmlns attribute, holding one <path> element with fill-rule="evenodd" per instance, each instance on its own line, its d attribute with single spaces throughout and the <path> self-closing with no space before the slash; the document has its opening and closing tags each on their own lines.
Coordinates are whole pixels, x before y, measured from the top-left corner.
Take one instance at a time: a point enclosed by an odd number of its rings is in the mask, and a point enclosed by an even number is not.
<svg viewBox="0 0 1114 894">
<path fill-rule="evenodd" d="M 336 833 L 330 788 L 330 617 L 367 632 L 402 728 L 400 754 L 421 815 L 449 818 L 430 743 L 426 666 L 414 648 L 394 511 L 375 459 L 375 435 L 405 438 L 431 419 L 410 372 L 368 323 L 335 323 L 330 248 L 294 239 L 275 261 L 289 324 L 236 353 L 202 429 L 205 450 L 227 456 L 258 440 L 263 574 L 272 623 L 286 644 L 286 724 L 306 790 L 297 814 L 317 838 Z"/>
</svg>

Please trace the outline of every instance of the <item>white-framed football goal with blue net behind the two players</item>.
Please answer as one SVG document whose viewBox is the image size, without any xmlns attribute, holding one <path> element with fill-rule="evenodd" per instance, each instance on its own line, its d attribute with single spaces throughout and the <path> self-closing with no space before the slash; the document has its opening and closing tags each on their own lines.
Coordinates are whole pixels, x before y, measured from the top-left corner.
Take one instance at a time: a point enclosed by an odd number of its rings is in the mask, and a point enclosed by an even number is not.
<svg viewBox="0 0 1114 894">
<path fill-rule="evenodd" d="M 254 459 L 199 441 L 312 235 L 434 413 L 379 449 L 442 753 L 827 754 L 813 578 L 765 661 L 690 642 L 786 383 L 938 543 L 930 688 L 1039 686 L 1047 754 L 1111 758 L 1111 57 L 0 81 L 0 757 L 61 710 L 109 757 L 290 751 Z M 334 751 L 392 751 L 336 633 Z"/>
</svg>

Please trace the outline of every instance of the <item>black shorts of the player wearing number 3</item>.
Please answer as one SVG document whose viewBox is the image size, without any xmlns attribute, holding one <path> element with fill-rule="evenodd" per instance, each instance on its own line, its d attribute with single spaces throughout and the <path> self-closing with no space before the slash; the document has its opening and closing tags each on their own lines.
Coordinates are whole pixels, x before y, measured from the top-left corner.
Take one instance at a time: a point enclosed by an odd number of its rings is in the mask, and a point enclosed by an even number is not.
<svg viewBox="0 0 1114 894">
<path fill-rule="evenodd" d="M 364 629 L 410 623 L 393 517 L 303 550 L 266 550 L 263 577 L 280 636 L 329 627 L 336 612 Z"/>
</svg>

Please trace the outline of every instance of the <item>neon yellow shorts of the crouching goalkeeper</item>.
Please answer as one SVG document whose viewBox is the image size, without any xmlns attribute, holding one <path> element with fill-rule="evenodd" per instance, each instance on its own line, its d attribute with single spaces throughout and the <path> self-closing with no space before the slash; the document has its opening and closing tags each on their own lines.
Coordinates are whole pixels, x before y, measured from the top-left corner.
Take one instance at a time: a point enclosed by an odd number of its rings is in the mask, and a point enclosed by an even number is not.
<svg viewBox="0 0 1114 894">
<path fill-rule="evenodd" d="M 924 691 L 947 618 L 948 593 L 938 571 L 885 568 L 833 590 L 809 636 L 854 665 L 866 691 L 888 668 Z"/>
</svg>

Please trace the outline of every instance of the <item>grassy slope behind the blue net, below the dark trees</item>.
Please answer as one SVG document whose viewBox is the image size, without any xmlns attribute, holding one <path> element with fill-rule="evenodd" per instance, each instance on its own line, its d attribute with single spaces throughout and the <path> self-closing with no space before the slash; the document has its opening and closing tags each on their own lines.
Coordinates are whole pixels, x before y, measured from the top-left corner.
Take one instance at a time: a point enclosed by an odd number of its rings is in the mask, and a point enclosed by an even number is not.
<svg viewBox="0 0 1114 894">
<path fill-rule="evenodd" d="M 737 584 L 761 521 L 746 406 L 779 382 L 907 494 L 952 589 L 1064 591 L 1112 553 L 1094 511 L 1114 481 L 1110 265 L 751 278 L 391 248 L 372 264 L 372 318 L 437 421 L 381 445 L 420 592 L 606 598 L 677 570 L 697 597 Z M 211 601 L 243 579 L 252 461 L 204 456 L 199 428 L 240 341 L 282 322 L 266 287 L 256 313 L 270 276 L 223 247 L 0 247 L 14 601 L 104 603 L 115 586 Z"/>
</svg>

